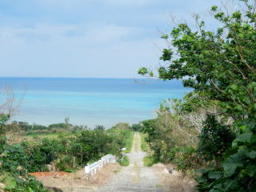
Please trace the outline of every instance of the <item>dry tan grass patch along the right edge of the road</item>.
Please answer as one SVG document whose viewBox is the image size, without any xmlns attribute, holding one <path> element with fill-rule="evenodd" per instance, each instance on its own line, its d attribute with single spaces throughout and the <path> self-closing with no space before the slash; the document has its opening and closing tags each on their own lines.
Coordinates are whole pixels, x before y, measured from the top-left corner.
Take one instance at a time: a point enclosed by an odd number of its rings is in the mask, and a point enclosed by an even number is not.
<svg viewBox="0 0 256 192">
<path fill-rule="evenodd" d="M 192 178 L 184 178 L 181 173 L 171 168 L 170 169 L 161 163 L 153 166 L 153 169 L 158 173 L 159 178 L 162 178 L 164 186 L 172 192 L 194 192 L 194 186 L 196 182 Z"/>
</svg>

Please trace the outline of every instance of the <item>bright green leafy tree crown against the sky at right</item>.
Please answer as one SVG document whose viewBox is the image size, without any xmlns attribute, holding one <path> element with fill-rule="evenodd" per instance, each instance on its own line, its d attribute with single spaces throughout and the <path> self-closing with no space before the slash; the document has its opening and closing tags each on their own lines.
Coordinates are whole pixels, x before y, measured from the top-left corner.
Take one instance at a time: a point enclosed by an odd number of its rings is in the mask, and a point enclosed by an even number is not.
<svg viewBox="0 0 256 192">
<path fill-rule="evenodd" d="M 193 31 L 186 23 L 181 23 L 162 37 L 170 40 L 171 48 L 164 49 L 160 59 L 170 65 L 159 67 L 158 77 L 183 79 L 184 86 L 220 101 L 222 112 L 235 119 L 254 117 L 256 31 L 253 7 L 248 6 L 245 15 L 240 11 L 225 15 L 217 6 L 213 6 L 212 11 L 223 24 L 215 33 L 204 30 L 205 22 L 198 21 L 199 30 Z M 148 75 L 150 72 L 146 68 L 138 71 Z"/>
</svg>

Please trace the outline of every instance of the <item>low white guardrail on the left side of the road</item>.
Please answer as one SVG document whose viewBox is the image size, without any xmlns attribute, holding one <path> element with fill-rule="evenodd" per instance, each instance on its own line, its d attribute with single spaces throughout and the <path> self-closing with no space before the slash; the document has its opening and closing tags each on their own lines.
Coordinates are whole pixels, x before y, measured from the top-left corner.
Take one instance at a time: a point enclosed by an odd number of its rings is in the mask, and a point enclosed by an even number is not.
<svg viewBox="0 0 256 192">
<path fill-rule="evenodd" d="M 106 156 L 104 156 L 103 158 L 101 158 L 100 160 L 98 160 L 98 162 L 94 162 L 90 165 L 85 166 L 85 174 L 96 174 L 97 169 L 100 170 L 102 169 L 102 167 L 107 163 L 107 162 L 116 162 L 117 158 L 112 155 L 112 154 L 107 154 Z"/>
</svg>

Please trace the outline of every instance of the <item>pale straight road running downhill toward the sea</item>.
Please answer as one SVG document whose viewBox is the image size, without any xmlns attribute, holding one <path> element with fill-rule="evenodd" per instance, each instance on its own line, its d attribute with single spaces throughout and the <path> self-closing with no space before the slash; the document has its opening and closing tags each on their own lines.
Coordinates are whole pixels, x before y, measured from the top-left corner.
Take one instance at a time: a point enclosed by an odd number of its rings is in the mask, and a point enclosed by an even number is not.
<svg viewBox="0 0 256 192">
<path fill-rule="evenodd" d="M 122 167 L 120 172 L 115 174 L 106 186 L 97 190 L 98 192 L 166 191 L 154 169 L 143 166 L 142 159 L 146 153 L 141 150 L 140 134 L 134 134 L 133 147 L 127 155 L 130 158 L 130 166 Z"/>
</svg>

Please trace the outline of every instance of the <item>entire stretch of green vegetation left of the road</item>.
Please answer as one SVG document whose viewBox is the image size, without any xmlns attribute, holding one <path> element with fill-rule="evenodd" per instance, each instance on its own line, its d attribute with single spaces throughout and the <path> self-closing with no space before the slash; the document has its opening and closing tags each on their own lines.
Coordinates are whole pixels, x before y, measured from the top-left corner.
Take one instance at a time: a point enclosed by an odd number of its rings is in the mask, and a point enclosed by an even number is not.
<svg viewBox="0 0 256 192">
<path fill-rule="evenodd" d="M 6 191 L 47 191 L 28 173 L 74 172 L 106 154 L 122 158 L 121 149 L 130 150 L 133 139 L 133 131 L 126 123 L 108 130 L 103 126 L 89 130 L 86 126 L 72 126 L 67 122 L 50 126 L 26 122 L 6 124 L 9 118 L 9 115 L 0 115 L 0 183 Z M 22 142 L 15 142 L 15 138 L 6 139 L 12 130 L 20 133 Z M 129 165 L 129 159 L 125 156 L 121 163 Z"/>
</svg>

